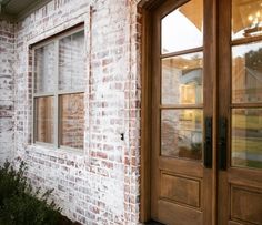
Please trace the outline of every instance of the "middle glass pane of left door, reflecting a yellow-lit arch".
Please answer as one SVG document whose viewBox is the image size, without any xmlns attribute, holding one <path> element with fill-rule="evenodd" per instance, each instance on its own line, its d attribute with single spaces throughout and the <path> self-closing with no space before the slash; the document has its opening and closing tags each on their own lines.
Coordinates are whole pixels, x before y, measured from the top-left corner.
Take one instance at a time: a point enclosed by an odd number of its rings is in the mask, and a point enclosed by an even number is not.
<svg viewBox="0 0 262 225">
<path fill-rule="evenodd" d="M 162 60 L 162 104 L 203 103 L 203 54 Z"/>
</svg>

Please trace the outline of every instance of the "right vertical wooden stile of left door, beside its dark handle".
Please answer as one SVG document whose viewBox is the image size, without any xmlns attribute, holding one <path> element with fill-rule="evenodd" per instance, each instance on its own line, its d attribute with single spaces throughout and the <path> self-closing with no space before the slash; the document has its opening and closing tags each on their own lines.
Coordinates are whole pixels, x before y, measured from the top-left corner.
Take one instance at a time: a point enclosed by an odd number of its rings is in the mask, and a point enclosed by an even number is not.
<svg viewBox="0 0 262 225">
<path fill-rule="evenodd" d="M 218 0 L 204 0 L 204 117 L 212 117 L 212 168 L 203 170 L 203 224 L 216 225 L 218 170 Z M 206 198 L 206 200 L 205 200 Z"/>
</svg>

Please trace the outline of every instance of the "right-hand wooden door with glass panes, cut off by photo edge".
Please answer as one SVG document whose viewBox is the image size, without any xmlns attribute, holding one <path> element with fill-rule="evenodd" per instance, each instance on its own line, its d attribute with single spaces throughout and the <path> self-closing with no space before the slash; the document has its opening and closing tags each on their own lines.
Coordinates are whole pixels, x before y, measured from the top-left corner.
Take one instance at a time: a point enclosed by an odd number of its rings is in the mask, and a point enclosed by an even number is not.
<svg viewBox="0 0 262 225">
<path fill-rule="evenodd" d="M 219 1 L 219 224 L 262 224 L 262 1 Z"/>
</svg>

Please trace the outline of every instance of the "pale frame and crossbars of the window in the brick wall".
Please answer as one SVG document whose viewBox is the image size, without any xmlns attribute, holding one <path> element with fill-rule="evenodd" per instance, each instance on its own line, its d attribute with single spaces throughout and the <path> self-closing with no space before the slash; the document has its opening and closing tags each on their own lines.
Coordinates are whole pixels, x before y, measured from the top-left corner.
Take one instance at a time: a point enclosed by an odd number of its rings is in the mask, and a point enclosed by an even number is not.
<svg viewBox="0 0 262 225">
<path fill-rule="evenodd" d="M 60 133 L 60 103 L 59 103 L 59 96 L 66 95 L 66 94 L 79 94 L 83 93 L 84 94 L 84 89 L 77 89 L 73 91 L 60 91 L 59 90 L 59 41 L 63 38 L 70 37 L 74 33 L 78 32 L 84 32 L 84 24 L 80 23 L 77 24 L 73 28 L 67 29 L 63 32 L 60 32 L 58 34 L 54 34 L 52 37 L 49 37 L 38 43 L 34 43 L 30 45 L 32 49 L 32 144 L 37 144 L 40 146 L 46 146 L 46 147 L 51 147 L 51 149 L 62 149 L 62 150 L 69 150 L 69 151 L 75 151 L 75 152 L 83 152 L 83 149 L 77 149 L 77 147 L 70 147 L 66 145 L 59 144 L 60 139 L 61 139 L 61 133 Z M 85 35 L 84 35 L 85 39 Z M 85 40 L 84 40 L 85 42 Z M 46 47 L 50 43 L 54 43 L 54 91 L 53 92 L 40 92 L 40 93 L 34 93 L 34 62 L 36 62 L 36 50 Z M 39 142 L 36 141 L 37 137 L 37 121 L 36 121 L 36 99 L 38 98 L 43 98 L 43 96 L 53 96 L 53 143 L 44 143 L 44 142 Z M 84 134 L 83 134 L 84 135 Z"/>
</svg>

